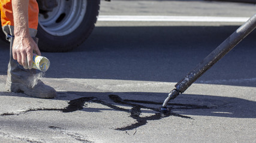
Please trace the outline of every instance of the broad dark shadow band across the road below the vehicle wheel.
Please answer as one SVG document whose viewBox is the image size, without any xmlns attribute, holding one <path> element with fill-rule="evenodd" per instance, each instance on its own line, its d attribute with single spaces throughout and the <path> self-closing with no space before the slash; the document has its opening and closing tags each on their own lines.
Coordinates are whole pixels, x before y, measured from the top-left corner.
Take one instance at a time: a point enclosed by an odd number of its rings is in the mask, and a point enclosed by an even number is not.
<svg viewBox="0 0 256 143">
<path fill-rule="evenodd" d="M 71 52 L 43 53 L 46 77 L 178 82 L 239 26 L 95 27 Z M 256 86 L 256 32 L 200 77 L 200 83 Z M 1 46 L 0 74 L 8 49 Z"/>
</svg>

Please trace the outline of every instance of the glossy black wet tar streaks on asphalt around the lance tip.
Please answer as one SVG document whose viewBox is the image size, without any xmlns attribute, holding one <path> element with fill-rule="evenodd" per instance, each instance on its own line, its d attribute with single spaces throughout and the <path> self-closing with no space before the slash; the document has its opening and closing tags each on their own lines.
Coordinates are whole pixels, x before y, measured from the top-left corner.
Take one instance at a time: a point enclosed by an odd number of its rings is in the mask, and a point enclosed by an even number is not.
<svg viewBox="0 0 256 143">
<path fill-rule="evenodd" d="M 71 100 L 68 104 L 68 107 L 62 110 L 64 113 L 82 110 L 85 107 L 86 102 L 95 102 L 98 104 L 106 105 L 107 107 L 113 108 L 114 110 L 118 111 L 124 111 L 130 114 L 130 117 L 132 119 L 137 120 L 136 123 L 132 125 L 125 126 L 123 128 L 117 128 L 116 130 L 132 130 L 135 128 L 138 128 L 140 126 L 146 125 L 147 121 L 149 120 L 160 120 L 164 117 L 169 116 L 176 116 L 176 117 L 182 117 L 185 119 L 192 119 L 189 116 L 183 116 L 177 113 L 172 113 L 171 111 L 168 111 L 166 113 L 162 113 L 159 108 L 153 108 L 153 107 L 147 107 L 145 105 L 141 104 L 153 104 L 153 105 L 159 105 L 161 106 L 161 102 L 152 102 L 152 101 L 138 101 L 138 100 L 122 100 L 121 97 L 118 95 L 109 95 L 110 100 L 115 102 L 119 105 L 128 105 L 132 107 L 131 109 L 125 109 L 118 107 L 117 105 L 114 105 L 112 103 L 108 103 L 102 100 L 98 100 L 98 98 L 95 97 L 83 97 L 76 100 Z M 169 106 L 172 106 L 172 109 L 198 109 L 198 108 L 209 108 L 206 105 L 192 105 L 192 104 L 168 104 Z M 146 116 L 146 117 L 140 117 L 141 115 L 141 108 L 153 110 L 156 113 L 152 116 Z"/>
</svg>

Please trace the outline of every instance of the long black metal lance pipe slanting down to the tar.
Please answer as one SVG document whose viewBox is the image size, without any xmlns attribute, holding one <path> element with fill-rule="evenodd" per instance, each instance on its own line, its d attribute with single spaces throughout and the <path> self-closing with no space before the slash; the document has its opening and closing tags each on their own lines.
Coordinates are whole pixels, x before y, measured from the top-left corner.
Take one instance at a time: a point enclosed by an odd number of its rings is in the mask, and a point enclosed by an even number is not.
<svg viewBox="0 0 256 143">
<path fill-rule="evenodd" d="M 219 61 L 225 54 L 234 48 L 240 41 L 242 41 L 249 33 L 251 33 L 256 27 L 256 14 L 254 14 L 248 21 L 239 27 L 234 33 L 232 33 L 224 42 L 222 42 L 216 49 L 214 49 L 201 63 L 191 70 L 182 80 L 176 83 L 176 89 L 168 94 L 162 104 L 161 111 L 168 111 L 167 104 L 170 100 L 173 100 L 180 93 L 186 91 L 192 83 L 195 82 L 205 71 L 210 69 L 217 61 Z"/>
</svg>

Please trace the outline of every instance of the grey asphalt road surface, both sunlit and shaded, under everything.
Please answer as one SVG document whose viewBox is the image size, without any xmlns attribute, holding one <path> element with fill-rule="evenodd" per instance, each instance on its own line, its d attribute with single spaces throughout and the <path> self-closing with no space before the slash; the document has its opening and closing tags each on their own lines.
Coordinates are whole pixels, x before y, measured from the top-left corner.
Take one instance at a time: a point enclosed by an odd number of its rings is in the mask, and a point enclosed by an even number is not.
<svg viewBox="0 0 256 143">
<path fill-rule="evenodd" d="M 1 41 L 0 141 L 256 142 L 256 31 L 159 112 L 176 82 L 255 12 L 232 2 L 102 1 L 85 43 L 42 53 L 52 100 L 5 92 Z"/>
</svg>

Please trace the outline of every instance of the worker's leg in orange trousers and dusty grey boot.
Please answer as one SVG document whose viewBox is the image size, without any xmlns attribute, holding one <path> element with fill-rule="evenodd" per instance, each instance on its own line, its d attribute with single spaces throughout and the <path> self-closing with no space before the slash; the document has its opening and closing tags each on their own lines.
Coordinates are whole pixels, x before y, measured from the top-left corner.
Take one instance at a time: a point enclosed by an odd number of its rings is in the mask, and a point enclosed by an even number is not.
<svg viewBox="0 0 256 143">
<path fill-rule="evenodd" d="M 2 1 L 1 1 L 2 2 Z M 6 1 L 5 1 L 6 2 Z M 36 1 L 32 1 L 36 2 Z M 35 4 L 35 3 L 32 3 Z M 13 16 L 10 10 L 6 8 L 10 5 L 10 1 L 7 3 L 1 3 L 1 20 L 2 29 L 4 30 L 5 35 L 7 36 L 8 41 L 10 42 L 10 61 L 8 64 L 8 71 L 7 71 L 7 81 L 5 88 L 7 91 L 11 92 L 24 92 L 25 94 L 32 96 L 32 97 L 38 97 L 38 98 L 53 98 L 56 96 L 56 91 L 50 86 L 44 85 L 41 80 L 39 80 L 37 71 L 35 69 L 32 70 L 26 70 L 23 69 L 22 66 L 17 63 L 16 60 L 13 59 L 12 54 L 12 46 L 13 46 L 13 40 L 14 40 L 14 26 L 13 26 Z M 38 9 L 38 7 L 35 7 L 33 5 L 29 5 L 30 9 Z M 5 11 L 4 15 L 2 15 L 2 11 Z M 34 10 L 38 11 L 38 10 Z M 11 13 L 11 14 L 10 14 Z M 38 14 L 38 13 L 37 13 Z M 29 14 L 29 17 L 31 15 Z M 35 40 L 37 43 L 37 38 L 35 38 L 35 35 L 37 34 L 37 30 L 35 29 L 35 24 L 37 26 L 37 22 L 33 21 L 31 18 L 29 18 L 29 33 L 31 37 Z M 32 28 L 33 27 L 33 28 Z"/>
</svg>

